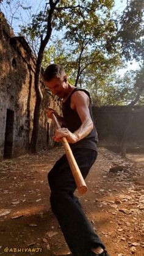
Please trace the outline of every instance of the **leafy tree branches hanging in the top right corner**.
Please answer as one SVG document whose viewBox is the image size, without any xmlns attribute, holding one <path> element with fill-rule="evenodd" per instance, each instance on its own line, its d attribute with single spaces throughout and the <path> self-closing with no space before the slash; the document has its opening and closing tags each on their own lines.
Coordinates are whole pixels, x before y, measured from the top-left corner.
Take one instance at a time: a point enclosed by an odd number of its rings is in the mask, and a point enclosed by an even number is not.
<svg viewBox="0 0 144 256">
<path fill-rule="evenodd" d="M 126 60 L 143 59 L 144 29 L 143 29 L 143 0 L 128 0 L 126 9 L 119 17 L 117 34 L 107 39 L 107 49 L 112 51 L 120 44 L 121 55 Z"/>
</svg>

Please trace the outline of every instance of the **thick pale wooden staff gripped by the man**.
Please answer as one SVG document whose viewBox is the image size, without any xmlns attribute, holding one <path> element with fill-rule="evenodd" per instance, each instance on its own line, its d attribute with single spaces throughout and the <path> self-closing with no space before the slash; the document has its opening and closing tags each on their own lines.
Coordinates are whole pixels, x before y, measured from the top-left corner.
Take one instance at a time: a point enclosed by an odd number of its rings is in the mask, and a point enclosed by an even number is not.
<svg viewBox="0 0 144 256">
<path fill-rule="evenodd" d="M 57 128 L 61 128 L 54 113 L 52 113 L 52 118 L 54 119 Z M 79 170 L 79 166 L 77 166 L 76 160 L 73 156 L 73 152 L 71 151 L 70 145 L 68 144 L 66 137 L 62 138 L 62 144 L 65 149 L 65 155 L 67 156 L 68 163 L 70 164 L 71 172 L 76 182 L 77 189 L 80 194 L 85 194 L 85 192 L 87 192 L 87 185 L 85 184 L 84 178 L 82 177 L 81 170 Z"/>
</svg>

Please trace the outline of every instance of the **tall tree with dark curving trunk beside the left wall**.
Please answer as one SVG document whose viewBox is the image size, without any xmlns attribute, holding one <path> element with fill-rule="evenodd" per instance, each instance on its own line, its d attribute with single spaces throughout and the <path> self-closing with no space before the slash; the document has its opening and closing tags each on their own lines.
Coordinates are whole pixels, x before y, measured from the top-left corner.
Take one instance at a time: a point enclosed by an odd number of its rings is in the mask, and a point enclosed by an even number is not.
<svg viewBox="0 0 144 256">
<path fill-rule="evenodd" d="M 31 26 L 27 27 L 27 31 L 31 35 L 31 37 L 39 37 L 41 38 L 40 49 L 38 51 L 37 57 L 37 67 L 35 73 L 35 92 L 36 92 L 36 104 L 34 110 L 34 128 L 32 131 L 32 139 L 31 139 L 31 151 L 37 151 L 37 139 L 38 139 L 38 125 L 39 125 L 39 115 L 40 115 L 40 106 L 42 100 L 42 94 L 40 90 L 40 73 L 41 73 L 41 62 L 43 59 L 43 53 L 45 50 L 45 46 L 51 37 L 52 26 L 61 27 L 63 26 L 62 20 L 67 25 L 68 19 L 70 20 L 70 16 L 74 16 L 75 23 L 77 19 L 82 20 L 82 24 L 84 24 L 85 17 L 93 13 L 94 10 L 99 9 L 98 7 L 105 6 L 105 1 L 102 4 L 99 4 L 97 1 L 85 2 L 81 1 L 81 5 L 76 5 L 76 1 L 50 1 L 49 4 L 46 4 L 45 12 L 40 12 L 38 15 L 35 15 Z M 113 2 L 109 0 L 107 2 Z M 58 4 L 59 3 L 59 4 Z M 61 5 L 60 5 L 61 4 Z M 57 6 L 56 6 L 57 5 Z M 80 17 L 77 14 L 81 13 Z M 54 16 L 55 15 L 55 16 Z M 56 18 L 57 17 L 57 18 Z M 79 18 L 77 18 L 79 17 Z M 46 23 L 47 21 L 47 23 Z M 57 23 L 56 23 L 57 21 Z M 45 35 L 46 34 L 46 35 Z M 45 38 L 43 39 L 43 35 Z"/>
</svg>

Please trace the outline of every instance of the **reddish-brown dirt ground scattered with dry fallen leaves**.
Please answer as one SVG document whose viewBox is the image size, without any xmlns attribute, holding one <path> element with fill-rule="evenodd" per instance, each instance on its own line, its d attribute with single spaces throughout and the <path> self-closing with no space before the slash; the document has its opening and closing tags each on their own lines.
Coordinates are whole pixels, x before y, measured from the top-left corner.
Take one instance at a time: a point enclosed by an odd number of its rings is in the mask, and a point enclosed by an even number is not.
<svg viewBox="0 0 144 256">
<path fill-rule="evenodd" d="M 69 252 L 49 205 L 47 182 L 62 153 L 54 148 L 0 162 L 0 255 Z M 76 192 L 110 256 L 144 255 L 144 155 L 128 158 L 99 148 L 86 179 L 87 194 Z M 123 170 L 110 171 L 116 165 Z"/>
</svg>

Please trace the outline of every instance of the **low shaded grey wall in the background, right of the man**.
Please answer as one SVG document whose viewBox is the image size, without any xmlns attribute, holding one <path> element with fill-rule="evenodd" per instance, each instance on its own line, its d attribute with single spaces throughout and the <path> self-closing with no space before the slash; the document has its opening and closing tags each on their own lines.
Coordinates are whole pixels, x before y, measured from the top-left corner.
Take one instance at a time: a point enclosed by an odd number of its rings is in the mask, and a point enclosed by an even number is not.
<svg viewBox="0 0 144 256">
<path fill-rule="evenodd" d="M 139 109 L 139 107 L 135 107 Z M 100 142 L 119 144 L 128 125 L 128 110 L 126 106 L 93 107 L 95 125 Z M 132 111 L 132 125 L 129 129 L 128 142 L 144 141 L 144 111 Z"/>
</svg>

